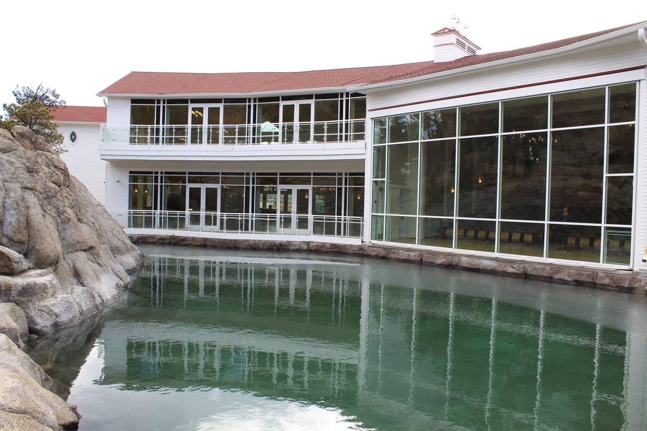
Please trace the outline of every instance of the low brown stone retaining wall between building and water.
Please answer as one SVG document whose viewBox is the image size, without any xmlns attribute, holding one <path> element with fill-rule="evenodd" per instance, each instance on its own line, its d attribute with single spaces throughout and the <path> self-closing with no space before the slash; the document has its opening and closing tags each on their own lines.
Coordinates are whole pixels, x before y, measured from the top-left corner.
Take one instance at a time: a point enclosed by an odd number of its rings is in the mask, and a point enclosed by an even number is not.
<svg viewBox="0 0 647 431">
<path fill-rule="evenodd" d="M 435 267 L 466 269 L 506 276 L 532 278 L 546 282 L 576 284 L 598 289 L 647 293 L 647 276 L 637 271 L 576 268 L 547 263 L 528 263 L 500 258 L 481 258 L 459 254 L 398 249 L 376 245 L 347 245 L 310 241 L 267 241 L 263 239 L 219 239 L 165 235 L 129 235 L 133 243 L 192 245 L 217 249 L 291 250 L 344 253 L 370 258 L 421 263 Z"/>
</svg>

